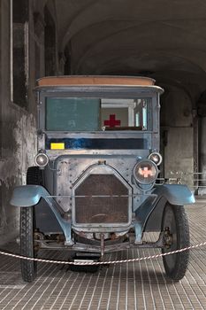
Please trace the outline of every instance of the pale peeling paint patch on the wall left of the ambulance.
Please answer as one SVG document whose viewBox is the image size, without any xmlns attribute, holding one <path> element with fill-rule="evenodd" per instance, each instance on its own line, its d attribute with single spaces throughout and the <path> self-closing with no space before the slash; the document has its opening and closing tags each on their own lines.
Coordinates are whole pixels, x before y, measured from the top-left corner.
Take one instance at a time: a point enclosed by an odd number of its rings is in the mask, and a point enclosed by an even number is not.
<svg viewBox="0 0 206 310">
<path fill-rule="evenodd" d="M 17 113 L 15 119 L 7 127 L 8 142 L 0 159 L 0 235 L 7 239 L 19 229 L 19 210 L 9 205 L 11 192 L 26 182 L 27 167 L 34 166 L 37 149 L 34 115 Z"/>
</svg>

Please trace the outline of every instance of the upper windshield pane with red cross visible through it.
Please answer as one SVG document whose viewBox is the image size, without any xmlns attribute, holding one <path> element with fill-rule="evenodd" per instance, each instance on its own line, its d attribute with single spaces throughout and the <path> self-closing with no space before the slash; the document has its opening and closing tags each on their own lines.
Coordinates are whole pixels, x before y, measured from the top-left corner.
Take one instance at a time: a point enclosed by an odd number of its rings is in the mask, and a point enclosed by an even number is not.
<svg viewBox="0 0 206 310">
<path fill-rule="evenodd" d="M 48 131 L 152 130 L 151 98 L 47 97 Z"/>
</svg>

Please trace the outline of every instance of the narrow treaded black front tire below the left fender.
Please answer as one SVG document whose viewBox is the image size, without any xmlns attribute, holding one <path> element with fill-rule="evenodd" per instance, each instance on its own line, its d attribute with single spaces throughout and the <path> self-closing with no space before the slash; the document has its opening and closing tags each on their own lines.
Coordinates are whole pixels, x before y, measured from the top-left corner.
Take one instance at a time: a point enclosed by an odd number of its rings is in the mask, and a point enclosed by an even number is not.
<svg viewBox="0 0 206 310">
<path fill-rule="evenodd" d="M 20 209 L 20 254 L 34 258 L 34 207 Z M 33 282 L 37 273 L 34 260 L 20 260 L 21 275 L 25 282 Z"/>
</svg>

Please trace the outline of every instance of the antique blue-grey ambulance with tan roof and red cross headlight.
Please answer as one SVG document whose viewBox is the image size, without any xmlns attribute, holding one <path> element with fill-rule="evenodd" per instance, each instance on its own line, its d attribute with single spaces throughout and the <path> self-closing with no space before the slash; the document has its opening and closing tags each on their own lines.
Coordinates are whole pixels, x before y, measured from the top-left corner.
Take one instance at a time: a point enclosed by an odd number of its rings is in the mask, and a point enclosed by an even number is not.
<svg viewBox="0 0 206 310">
<path fill-rule="evenodd" d="M 183 205 L 195 198 L 186 185 L 156 181 L 164 90 L 120 76 L 45 77 L 35 90 L 38 152 L 11 198 L 20 208 L 20 253 L 68 250 L 87 264 L 127 249 L 186 248 Z M 143 240 L 150 231 L 159 232 L 153 243 Z M 181 279 L 188 255 L 165 255 L 165 274 Z M 32 282 L 36 262 L 21 260 L 21 273 Z"/>
</svg>

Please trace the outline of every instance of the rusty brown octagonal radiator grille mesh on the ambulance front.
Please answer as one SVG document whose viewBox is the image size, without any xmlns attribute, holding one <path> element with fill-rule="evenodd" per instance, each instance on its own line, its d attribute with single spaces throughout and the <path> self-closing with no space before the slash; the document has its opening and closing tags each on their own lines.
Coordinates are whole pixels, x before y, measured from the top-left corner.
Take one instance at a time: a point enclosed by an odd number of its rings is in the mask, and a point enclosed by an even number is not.
<svg viewBox="0 0 206 310">
<path fill-rule="evenodd" d="M 76 196 L 128 195 L 126 186 L 114 174 L 90 174 L 75 190 Z M 76 223 L 128 222 L 128 197 L 75 198 Z"/>
</svg>

